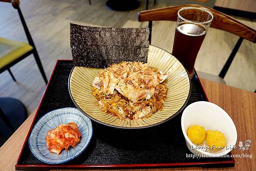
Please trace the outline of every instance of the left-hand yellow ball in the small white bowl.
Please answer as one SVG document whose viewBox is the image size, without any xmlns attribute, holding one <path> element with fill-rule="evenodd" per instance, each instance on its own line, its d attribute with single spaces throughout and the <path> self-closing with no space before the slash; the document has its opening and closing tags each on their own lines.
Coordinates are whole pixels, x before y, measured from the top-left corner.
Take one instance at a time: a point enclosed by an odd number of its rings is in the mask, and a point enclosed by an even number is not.
<svg viewBox="0 0 256 171">
<path fill-rule="evenodd" d="M 190 141 L 197 145 L 204 142 L 206 137 L 206 131 L 204 127 L 198 125 L 190 126 L 187 133 Z"/>
</svg>

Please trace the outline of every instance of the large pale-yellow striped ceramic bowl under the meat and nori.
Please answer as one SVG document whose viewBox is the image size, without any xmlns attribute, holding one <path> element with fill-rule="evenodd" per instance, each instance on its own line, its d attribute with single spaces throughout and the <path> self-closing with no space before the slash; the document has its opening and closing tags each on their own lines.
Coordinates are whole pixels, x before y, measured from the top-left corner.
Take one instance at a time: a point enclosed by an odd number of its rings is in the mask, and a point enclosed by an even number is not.
<svg viewBox="0 0 256 171">
<path fill-rule="evenodd" d="M 147 128 L 166 122 L 186 106 L 191 91 L 191 81 L 183 65 L 172 54 L 156 46 L 150 45 L 148 48 L 148 65 L 158 68 L 164 74 L 168 73 L 167 100 L 163 110 L 154 113 L 149 118 L 122 120 L 99 110 L 96 98 L 92 95 L 92 82 L 95 76 L 104 69 L 74 67 L 69 78 L 71 99 L 76 107 L 90 119 L 114 128 Z"/>
</svg>

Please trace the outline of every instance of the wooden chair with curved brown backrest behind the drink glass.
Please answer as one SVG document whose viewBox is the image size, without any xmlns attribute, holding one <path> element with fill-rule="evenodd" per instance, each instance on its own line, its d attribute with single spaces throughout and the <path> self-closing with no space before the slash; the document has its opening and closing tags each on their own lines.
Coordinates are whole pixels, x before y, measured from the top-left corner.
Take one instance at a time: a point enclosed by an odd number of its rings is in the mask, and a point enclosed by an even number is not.
<svg viewBox="0 0 256 171">
<path fill-rule="evenodd" d="M 178 10 L 187 6 L 194 6 L 194 7 L 207 9 L 208 11 L 212 12 L 214 16 L 210 27 L 221 29 L 221 30 L 233 33 L 234 35 L 237 35 L 240 37 L 218 76 L 207 74 L 204 72 L 198 73 L 198 75 L 202 78 L 206 78 L 212 81 L 217 81 L 225 84 L 225 81 L 223 80 L 223 78 L 225 77 L 227 70 L 229 69 L 242 41 L 246 39 L 248 41 L 256 43 L 256 30 L 250 28 L 249 26 L 244 25 L 243 23 L 239 22 L 233 17 L 230 17 L 226 14 L 223 14 L 221 12 L 216 11 L 215 9 L 212 9 L 206 6 L 200 6 L 200 5 L 170 6 L 165 8 L 151 9 L 151 10 L 138 12 L 138 20 L 140 22 L 149 21 L 148 23 L 148 27 L 150 30 L 149 42 L 151 42 L 152 21 L 157 21 L 157 20 L 177 21 Z"/>
</svg>

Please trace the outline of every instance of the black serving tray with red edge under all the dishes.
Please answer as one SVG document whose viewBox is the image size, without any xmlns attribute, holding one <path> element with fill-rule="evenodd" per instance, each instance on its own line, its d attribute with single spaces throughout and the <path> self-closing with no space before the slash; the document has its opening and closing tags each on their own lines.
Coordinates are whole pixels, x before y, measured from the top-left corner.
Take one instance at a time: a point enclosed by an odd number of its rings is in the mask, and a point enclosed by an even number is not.
<svg viewBox="0 0 256 171">
<path fill-rule="evenodd" d="M 71 60 L 58 60 L 29 129 L 45 113 L 62 107 L 75 107 L 68 91 Z M 192 78 L 187 105 L 208 101 L 201 81 Z M 182 113 L 182 112 L 181 112 Z M 45 164 L 29 150 L 28 137 L 17 159 L 16 170 L 93 169 L 93 168 L 163 168 L 163 167 L 233 167 L 232 157 L 191 158 L 180 126 L 181 113 L 152 128 L 121 130 L 93 122 L 93 138 L 87 149 L 75 159 L 58 165 Z"/>
</svg>

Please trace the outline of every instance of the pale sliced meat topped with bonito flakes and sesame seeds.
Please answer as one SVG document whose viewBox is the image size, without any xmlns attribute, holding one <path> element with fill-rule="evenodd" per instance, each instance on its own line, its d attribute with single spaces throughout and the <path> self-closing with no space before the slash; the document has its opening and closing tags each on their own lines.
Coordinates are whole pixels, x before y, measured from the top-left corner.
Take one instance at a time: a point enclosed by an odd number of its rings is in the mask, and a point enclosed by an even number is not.
<svg viewBox="0 0 256 171">
<path fill-rule="evenodd" d="M 158 69 L 141 62 L 121 62 L 113 64 L 99 73 L 93 87 L 112 95 L 116 89 L 132 102 L 150 99 L 154 90 L 168 75 L 162 75 Z"/>
</svg>

